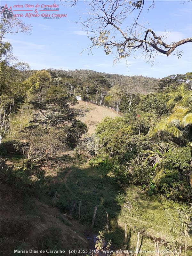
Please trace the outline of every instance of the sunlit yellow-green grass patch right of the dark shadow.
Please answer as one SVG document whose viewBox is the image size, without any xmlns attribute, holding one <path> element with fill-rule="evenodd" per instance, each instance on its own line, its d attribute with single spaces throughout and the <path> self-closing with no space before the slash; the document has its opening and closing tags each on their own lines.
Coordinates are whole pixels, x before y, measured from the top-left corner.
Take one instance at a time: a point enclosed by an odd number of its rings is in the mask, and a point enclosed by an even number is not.
<svg viewBox="0 0 192 256">
<path fill-rule="evenodd" d="M 126 190 L 126 201 L 132 205 L 131 212 L 125 207 L 122 208 L 119 215 L 119 225 L 128 223 L 130 227 L 137 225 L 144 229 L 149 236 L 161 237 L 170 236 L 168 223 L 165 216 L 165 210 L 168 209 L 175 215 L 176 203 L 169 202 L 160 196 L 148 196 L 143 193 L 139 187 L 130 186 Z"/>
</svg>

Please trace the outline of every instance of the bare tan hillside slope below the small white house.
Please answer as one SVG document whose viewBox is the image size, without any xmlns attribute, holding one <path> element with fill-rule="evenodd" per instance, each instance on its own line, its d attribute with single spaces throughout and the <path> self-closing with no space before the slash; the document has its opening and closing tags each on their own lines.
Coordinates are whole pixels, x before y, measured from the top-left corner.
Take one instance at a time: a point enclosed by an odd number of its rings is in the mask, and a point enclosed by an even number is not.
<svg viewBox="0 0 192 256">
<path fill-rule="evenodd" d="M 109 116 L 111 118 L 115 118 L 116 116 L 120 116 L 117 115 L 117 112 L 115 110 L 98 106 L 90 102 L 87 102 L 86 105 L 86 102 L 83 100 L 78 100 L 78 104 L 73 106 L 73 108 L 80 109 L 82 110 L 82 112 L 85 112 L 85 110 L 88 111 L 86 112 L 85 116 L 82 116 L 80 119 L 82 122 L 87 124 L 90 134 L 95 132 L 97 124 L 99 124 L 104 117 Z"/>
</svg>

